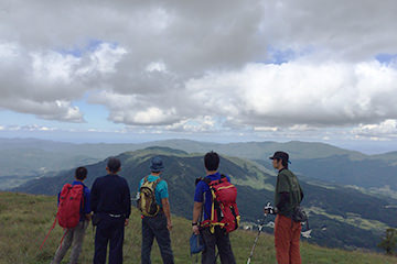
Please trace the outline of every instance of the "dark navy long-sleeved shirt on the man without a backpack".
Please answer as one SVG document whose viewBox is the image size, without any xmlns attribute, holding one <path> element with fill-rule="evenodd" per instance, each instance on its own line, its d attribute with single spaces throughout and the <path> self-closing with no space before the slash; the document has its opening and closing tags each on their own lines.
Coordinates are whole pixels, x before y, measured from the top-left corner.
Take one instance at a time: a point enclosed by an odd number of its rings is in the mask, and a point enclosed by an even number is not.
<svg viewBox="0 0 397 264">
<path fill-rule="evenodd" d="M 92 187 L 92 209 L 95 213 L 131 215 L 131 197 L 127 180 L 118 175 L 97 178 Z"/>
</svg>

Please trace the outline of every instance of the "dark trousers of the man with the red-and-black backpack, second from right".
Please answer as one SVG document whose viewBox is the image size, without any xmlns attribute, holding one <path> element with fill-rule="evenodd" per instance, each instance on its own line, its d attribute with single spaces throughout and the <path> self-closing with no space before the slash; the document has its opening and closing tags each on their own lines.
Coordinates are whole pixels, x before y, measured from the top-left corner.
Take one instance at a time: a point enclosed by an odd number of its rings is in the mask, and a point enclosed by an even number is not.
<svg viewBox="0 0 397 264">
<path fill-rule="evenodd" d="M 202 253 L 202 264 L 214 264 L 216 260 L 215 245 L 218 249 L 222 264 L 236 264 L 229 235 L 219 227 L 215 227 L 215 232 L 211 233 L 210 228 L 200 230 L 203 237 L 205 249 Z"/>
</svg>

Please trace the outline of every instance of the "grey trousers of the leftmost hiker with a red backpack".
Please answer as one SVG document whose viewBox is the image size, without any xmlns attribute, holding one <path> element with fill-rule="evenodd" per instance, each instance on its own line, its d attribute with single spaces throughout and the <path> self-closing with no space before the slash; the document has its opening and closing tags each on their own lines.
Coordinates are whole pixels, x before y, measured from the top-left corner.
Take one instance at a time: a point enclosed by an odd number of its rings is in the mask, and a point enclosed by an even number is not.
<svg viewBox="0 0 397 264">
<path fill-rule="evenodd" d="M 65 238 L 60 245 L 60 248 L 56 250 L 54 260 L 51 262 L 51 264 L 60 264 L 62 260 L 64 258 L 67 250 L 72 246 L 72 253 L 71 253 L 71 264 L 76 264 L 79 254 L 82 253 L 83 248 L 83 241 L 85 231 L 87 230 L 87 227 L 89 224 L 89 221 L 81 221 L 78 222 L 77 227 L 73 229 L 66 229 Z"/>
</svg>

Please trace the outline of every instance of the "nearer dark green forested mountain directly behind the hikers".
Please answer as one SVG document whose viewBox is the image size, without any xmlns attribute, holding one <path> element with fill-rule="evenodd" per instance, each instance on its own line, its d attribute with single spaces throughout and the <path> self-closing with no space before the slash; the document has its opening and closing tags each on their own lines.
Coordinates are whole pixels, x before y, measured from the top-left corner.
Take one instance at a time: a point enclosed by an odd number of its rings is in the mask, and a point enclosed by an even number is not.
<svg viewBox="0 0 397 264">
<path fill-rule="evenodd" d="M 172 211 L 191 218 L 194 180 L 204 175 L 203 155 L 168 147 L 149 147 L 119 155 L 120 175 L 127 178 L 132 194 L 136 194 L 139 180 L 149 173 L 149 161 L 154 155 L 160 155 L 165 164 L 163 178 L 169 183 Z M 105 167 L 106 161 L 87 166 L 88 186 L 96 177 L 105 175 Z M 238 186 L 243 221 L 254 222 L 261 218 L 264 205 L 273 199 L 275 173 L 258 163 L 229 156 L 222 157 L 221 172 L 229 175 Z M 14 191 L 55 195 L 71 180 L 72 169 L 30 180 Z M 313 229 L 311 242 L 332 248 L 375 249 L 382 232 L 397 226 L 397 219 L 390 217 L 397 215 L 397 209 L 382 198 L 303 179 L 301 185 Z"/>
</svg>

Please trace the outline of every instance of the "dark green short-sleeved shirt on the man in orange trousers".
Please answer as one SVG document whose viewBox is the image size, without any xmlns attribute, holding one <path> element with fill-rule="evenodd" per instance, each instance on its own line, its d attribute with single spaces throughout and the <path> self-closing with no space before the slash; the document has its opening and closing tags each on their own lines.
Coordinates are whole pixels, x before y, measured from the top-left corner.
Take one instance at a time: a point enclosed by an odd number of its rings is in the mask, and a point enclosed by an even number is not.
<svg viewBox="0 0 397 264">
<path fill-rule="evenodd" d="M 290 202 L 282 208 L 279 213 L 290 217 L 293 208 L 300 205 L 302 197 L 302 189 L 299 185 L 297 176 L 289 169 L 282 169 L 277 176 L 275 205 L 278 205 L 281 199 L 281 193 L 290 194 Z"/>
</svg>

